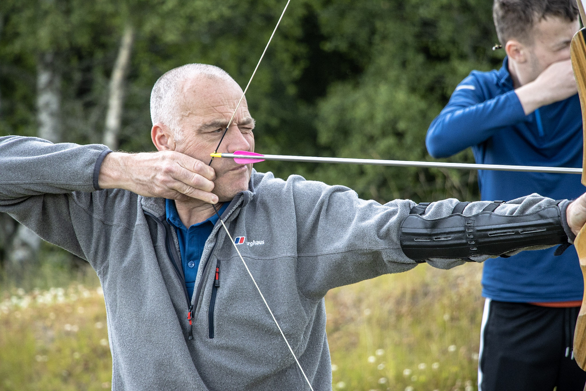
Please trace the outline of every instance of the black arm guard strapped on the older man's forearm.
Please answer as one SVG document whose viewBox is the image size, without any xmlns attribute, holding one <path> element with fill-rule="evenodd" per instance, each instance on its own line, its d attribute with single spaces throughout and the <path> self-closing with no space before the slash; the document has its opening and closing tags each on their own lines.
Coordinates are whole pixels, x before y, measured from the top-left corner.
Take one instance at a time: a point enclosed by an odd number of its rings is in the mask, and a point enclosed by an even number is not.
<svg viewBox="0 0 586 391">
<path fill-rule="evenodd" d="M 401 225 L 401 248 L 407 257 L 417 261 L 470 260 L 471 256 L 495 256 L 524 247 L 561 243 L 568 243 L 568 237 L 558 206 L 515 216 L 480 212 L 426 220 L 420 215 L 409 215 Z"/>
</svg>

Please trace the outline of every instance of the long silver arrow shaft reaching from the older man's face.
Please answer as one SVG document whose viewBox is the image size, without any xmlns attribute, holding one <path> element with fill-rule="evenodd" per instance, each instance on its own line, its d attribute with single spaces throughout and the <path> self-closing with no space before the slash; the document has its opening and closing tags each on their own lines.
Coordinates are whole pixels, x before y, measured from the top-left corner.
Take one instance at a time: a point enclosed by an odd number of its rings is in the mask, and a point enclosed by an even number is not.
<svg viewBox="0 0 586 391">
<path fill-rule="evenodd" d="M 522 171 L 522 172 L 550 172 L 553 174 L 582 174 L 581 168 L 570 168 L 570 167 L 515 166 L 515 165 L 502 165 L 502 164 L 468 164 L 468 163 L 446 163 L 446 162 L 418 162 L 418 161 L 382 160 L 382 159 L 324 158 L 324 157 L 315 157 L 315 156 L 289 156 L 289 155 L 248 156 L 248 155 L 236 155 L 236 154 L 221 154 L 221 156 L 223 158 L 265 159 L 265 160 L 270 160 L 270 161 L 284 161 L 284 162 L 363 164 L 363 165 L 397 166 L 397 167 L 485 169 L 485 170 L 492 170 L 492 171 Z"/>
</svg>

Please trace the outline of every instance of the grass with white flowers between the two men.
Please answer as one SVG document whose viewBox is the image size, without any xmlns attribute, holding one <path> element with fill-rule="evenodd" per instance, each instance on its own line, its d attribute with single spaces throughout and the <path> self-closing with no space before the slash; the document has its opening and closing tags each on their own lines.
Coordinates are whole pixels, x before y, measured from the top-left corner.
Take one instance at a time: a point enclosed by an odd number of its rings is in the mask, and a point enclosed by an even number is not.
<svg viewBox="0 0 586 391">
<path fill-rule="evenodd" d="M 476 390 L 482 266 L 418 266 L 326 296 L 335 390 Z"/>
</svg>

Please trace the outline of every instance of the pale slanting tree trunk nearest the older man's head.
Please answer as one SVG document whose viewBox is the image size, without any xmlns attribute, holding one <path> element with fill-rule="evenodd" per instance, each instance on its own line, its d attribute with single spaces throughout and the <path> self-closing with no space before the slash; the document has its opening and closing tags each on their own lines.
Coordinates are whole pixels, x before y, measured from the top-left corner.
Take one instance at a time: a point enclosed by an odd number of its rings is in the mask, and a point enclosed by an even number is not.
<svg viewBox="0 0 586 391">
<path fill-rule="evenodd" d="M 118 132 L 122 120 L 122 106 L 124 106 L 124 79 L 130 67 L 130 55 L 134 42 L 134 29 L 131 25 L 124 28 L 124 34 L 120 42 L 118 57 L 114 63 L 112 76 L 110 77 L 110 98 L 108 99 L 108 111 L 104 128 L 103 143 L 115 151 L 118 149 Z"/>
</svg>

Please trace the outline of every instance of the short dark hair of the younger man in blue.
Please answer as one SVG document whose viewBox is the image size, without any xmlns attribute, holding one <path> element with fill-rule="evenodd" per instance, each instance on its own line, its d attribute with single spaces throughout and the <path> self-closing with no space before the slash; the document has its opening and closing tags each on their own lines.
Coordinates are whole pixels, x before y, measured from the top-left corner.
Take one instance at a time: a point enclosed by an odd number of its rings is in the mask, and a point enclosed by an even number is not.
<svg viewBox="0 0 586 391">
<path fill-rule="evenodd" d="M 533 24 L 547 16 L 558 16 L 568 22 L 578 17 L 576 0 L 495 0 L 492 17 L 501 45 L 515 38 L 533 42 L 530 31 Z"/>
</svg>

